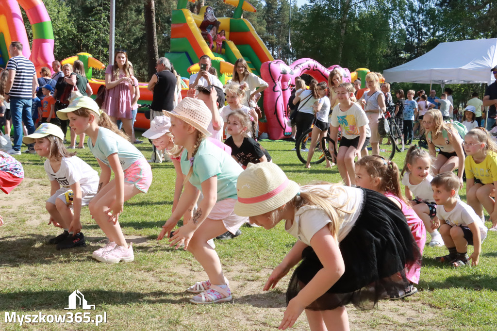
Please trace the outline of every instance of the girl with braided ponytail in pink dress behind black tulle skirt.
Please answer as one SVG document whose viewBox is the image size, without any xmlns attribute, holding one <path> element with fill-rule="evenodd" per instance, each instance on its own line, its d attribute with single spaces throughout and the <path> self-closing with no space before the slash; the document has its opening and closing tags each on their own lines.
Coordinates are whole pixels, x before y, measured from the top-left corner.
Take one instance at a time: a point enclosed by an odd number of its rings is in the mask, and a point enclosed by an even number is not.
<svg viewBox="0 0 497 331">
<path fill-rule="evenodd" d="M 402 195 L 399 167 L 391 161 L 385 160 L 382 156 L 371 155 L 361 158 L 355 165 L 355 182 L 357 186 L 379 192 L 389 198 L 404 213 L 407 224 L 411 228 L 414 240 L 423 254 L 426 242 L 426 230 L 423 221 L 417 216 L 413 207 Z M 419 282 L 421 271 L 421 260 L 406 264 L 406 277 L 410 284 L 403 291 L 396 295 L 391 295 L 391 299 L 400 299 L 413 295 L 417 292 L 414 284 Z"/>
</svg>

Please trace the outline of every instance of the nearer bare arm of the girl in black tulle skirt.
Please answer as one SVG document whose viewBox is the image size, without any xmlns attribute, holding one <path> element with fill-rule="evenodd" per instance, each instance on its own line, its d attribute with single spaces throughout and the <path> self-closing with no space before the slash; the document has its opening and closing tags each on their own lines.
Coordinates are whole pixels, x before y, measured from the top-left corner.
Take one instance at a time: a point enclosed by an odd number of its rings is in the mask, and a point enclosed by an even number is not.
<svg viewBox="0 0 497 331">
<path fill-rule="evenodd" d="M 295 298 L 290 300 L 278 329 L 285 330 L 293 326 L 304 309 L 328 291 L 345 272 L 338 242 L 331 236 L 328 226 L 323 227 L 312 237 L 311 246 L 323 268 Z"/>
</svg>

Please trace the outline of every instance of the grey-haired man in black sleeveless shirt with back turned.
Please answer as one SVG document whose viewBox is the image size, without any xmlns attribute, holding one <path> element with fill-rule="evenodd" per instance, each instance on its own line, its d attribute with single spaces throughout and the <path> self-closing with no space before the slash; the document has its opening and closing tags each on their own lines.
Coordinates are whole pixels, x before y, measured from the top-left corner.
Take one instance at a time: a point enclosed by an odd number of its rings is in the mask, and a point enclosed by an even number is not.
<svg viewBox="0 0 497 331">
<path fill-rule="evenodd" d="M 152 91 L 152 105 L 150 106 L 150 122 L 156 116 L 162 116 L 163 110 L 171 111 L 173 100 L 176 97 L 174 88 L 176 87 L 176 77 L 171 73 L 171 63 L 166 58 L 159 58 L 156 65 L 157 73 L 152 76 L 147 88 Z M 154 152 L 150 163 L 162 163 L 163 153 L 154 146 Z M 166 157 L 169 161 L 169 158 Z"/>
</svg>

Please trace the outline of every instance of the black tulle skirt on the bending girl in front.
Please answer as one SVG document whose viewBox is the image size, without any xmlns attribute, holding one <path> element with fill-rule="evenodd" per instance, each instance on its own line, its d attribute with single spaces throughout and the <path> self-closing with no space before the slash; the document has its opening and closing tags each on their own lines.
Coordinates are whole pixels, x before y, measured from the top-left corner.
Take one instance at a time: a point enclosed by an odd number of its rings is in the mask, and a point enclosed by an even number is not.
<svg viewBox="0 0 497 331">
<path fill-rule="evenodd" d="M 331 310 L 350 303 L 357 309 L 372 309 L 379 299 L 405 290 L 406 263 L 421 261 L 402 211 L 383 194 L 367 189 L 363 194 L 361 213 L 339 243 L 345 272 L 306 309 Z M 313 248 L 305 248 L 288 285 L 287 305 L 322 268 Z"/>
</svg>

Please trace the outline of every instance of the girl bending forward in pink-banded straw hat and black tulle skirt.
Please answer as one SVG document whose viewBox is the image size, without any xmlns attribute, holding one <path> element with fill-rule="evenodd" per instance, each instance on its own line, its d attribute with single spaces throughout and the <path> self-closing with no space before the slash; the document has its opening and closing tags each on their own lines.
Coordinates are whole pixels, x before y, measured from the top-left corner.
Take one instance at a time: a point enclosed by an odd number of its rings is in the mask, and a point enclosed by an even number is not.
<svg viewBox="0 0 497 331">
<path fill-rule="evenodd" d="M 266 230 L 286 220 L 298 239 L 263 288 L 274 288 L 302 260 L 279 329 L 305 310 L 311 330 L 349 330 L 344 306 L 372 308 L 404 290 L 406 262 L 421 258 L 406 218 L 380 193 L 330 183 L 299 187 L 272 163 L 249 164 L 237 193 L 237 215 Z"/>
</svg>

